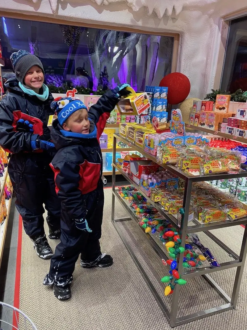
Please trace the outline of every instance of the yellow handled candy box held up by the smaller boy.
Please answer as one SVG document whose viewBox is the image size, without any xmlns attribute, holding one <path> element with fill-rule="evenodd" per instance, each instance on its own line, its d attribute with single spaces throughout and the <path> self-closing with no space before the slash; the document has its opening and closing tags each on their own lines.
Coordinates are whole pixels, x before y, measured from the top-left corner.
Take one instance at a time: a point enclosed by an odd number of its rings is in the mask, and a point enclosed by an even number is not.
<svg viewBox="0 0 247 330">
<path fill-rule="evenodd" d="M 151 104 L 147 93 L 136 93 L 133 88 L 126 87 L 131 94 L 121 99 L 117 108 L 122 115 L 141 115 Z"/>
</svg>

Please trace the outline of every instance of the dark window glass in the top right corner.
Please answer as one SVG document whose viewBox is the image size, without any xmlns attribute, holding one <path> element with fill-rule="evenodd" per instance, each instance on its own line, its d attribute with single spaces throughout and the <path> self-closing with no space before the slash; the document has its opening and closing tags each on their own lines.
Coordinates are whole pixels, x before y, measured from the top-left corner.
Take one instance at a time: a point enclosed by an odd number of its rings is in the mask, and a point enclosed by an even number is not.
<svg viewBox="0 0 247 330">
<path fill-rule="evenodd" d="M 247 91 L 247 16 L 230 22 L 221 89 Z"/>
</svg>

